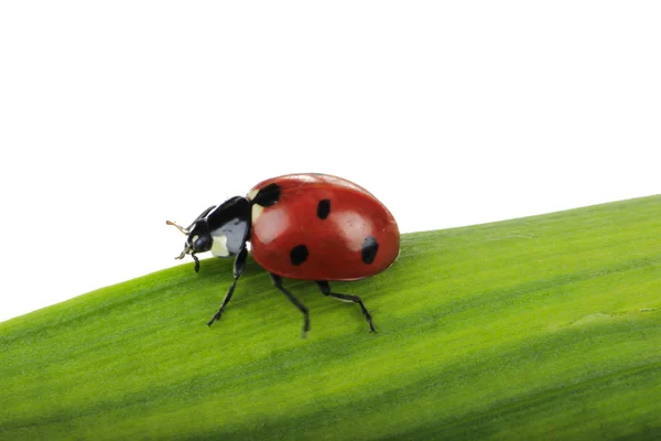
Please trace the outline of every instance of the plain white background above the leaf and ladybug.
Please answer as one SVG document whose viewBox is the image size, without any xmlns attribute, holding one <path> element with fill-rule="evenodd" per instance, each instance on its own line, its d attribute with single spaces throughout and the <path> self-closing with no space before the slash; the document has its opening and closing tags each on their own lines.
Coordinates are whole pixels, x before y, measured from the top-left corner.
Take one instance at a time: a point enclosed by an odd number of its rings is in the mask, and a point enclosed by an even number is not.
<svg viewBox="0 0 661 441">
<path fill-rule="evenodd" d="M 165 219 L 278 174 L 403 232 L 661 193 L 658 4 L 4 1 L 0 320 L 177 265 Z"/>
</svg>

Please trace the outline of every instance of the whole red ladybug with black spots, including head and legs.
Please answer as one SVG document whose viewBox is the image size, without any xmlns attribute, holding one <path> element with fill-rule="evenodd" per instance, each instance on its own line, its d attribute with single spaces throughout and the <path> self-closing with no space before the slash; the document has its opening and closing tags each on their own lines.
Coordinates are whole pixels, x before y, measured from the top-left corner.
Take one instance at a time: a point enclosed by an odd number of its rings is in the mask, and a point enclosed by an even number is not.
<svg viewBox="0 0 661 441">
<path fill-rule="evenodd" d="M 199 271 L 196 255 L 212 251 L 232 257 L 234 282 L 209 326 L 220 320 L 243 272 L 247 243 L 273 286 L 303 313 L 303 336 L 310 330 L 307 308 L 282 278 L 315 281 L 322 293 L 355 302 L 375 332 L 372 318 L 358 295 L 330 290 L 329 281 L 373 276 L 398 257 L 400 233 L 392 214 L 371 193 L 342 178 L 318 173 L 288 174 L 257 184 L 247 196 L 210 206 L 188 226 L 174 225 L 187 236 L 184 250 Z"/>
</svg>

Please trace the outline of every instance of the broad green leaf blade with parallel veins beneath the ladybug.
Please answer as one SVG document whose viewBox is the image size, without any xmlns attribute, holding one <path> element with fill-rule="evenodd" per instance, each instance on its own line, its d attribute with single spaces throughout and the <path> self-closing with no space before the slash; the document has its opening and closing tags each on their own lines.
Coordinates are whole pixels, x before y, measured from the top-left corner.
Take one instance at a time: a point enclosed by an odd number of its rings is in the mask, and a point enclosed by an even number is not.
<svg viewBox="0 0 661 441">
<path fill-rule="evenodd" d="M 409 234 L 332 283 L 202 261 L 0 324 L 0 439 L 661 437 L 661 196 Z M 35 261 L 39 266 L 46 260 Z"/>
</svg>

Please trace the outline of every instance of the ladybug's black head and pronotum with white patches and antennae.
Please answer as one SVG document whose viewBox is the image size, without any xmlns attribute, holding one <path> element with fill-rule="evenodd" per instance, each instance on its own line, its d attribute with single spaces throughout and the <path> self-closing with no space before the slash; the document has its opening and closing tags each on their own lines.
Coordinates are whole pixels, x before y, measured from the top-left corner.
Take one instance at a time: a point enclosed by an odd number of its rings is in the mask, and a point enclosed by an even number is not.
<svg viewBox="0 0 661 441">
<path fill-rule="evenodd" d="M 197 271 L 197 252 L 212 251 L 217 257 L 238 255 L 246 247 L 250 234 L 250 202 L 236 196 L 219 207 L 212 206 L 205 209 L 188 228 L 182 228 L 167 220 L 167 225 L 174 225 L 187 236 L 184 250 L 176 258 L 183 259 L 191 255 Z"/>
</svg>

